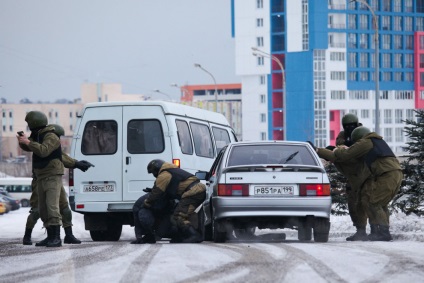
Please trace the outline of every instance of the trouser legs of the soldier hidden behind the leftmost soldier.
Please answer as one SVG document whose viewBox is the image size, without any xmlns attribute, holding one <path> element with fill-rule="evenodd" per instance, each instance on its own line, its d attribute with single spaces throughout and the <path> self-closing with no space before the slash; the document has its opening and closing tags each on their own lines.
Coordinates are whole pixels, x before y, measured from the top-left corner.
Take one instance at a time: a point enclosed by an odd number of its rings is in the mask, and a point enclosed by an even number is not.
<svg viewBox="0 0 424 283">
<path fill-rule="evenodd" d="M 32 193 L 29 203 L 31 205 L 31 210 L 29 211 L 29 215 L 27 218 L 26 228 L 34 229 L 35 224 L 37 224 L 38 219 L 40 219 L 36 182 L 32 182 Z M 59 209 L 60 214 L 62 216 L 63 228 L 72 226 L 72 211 L 69 208 L 68 197 L 63 186 L 60 189 Z"/>
</svg>

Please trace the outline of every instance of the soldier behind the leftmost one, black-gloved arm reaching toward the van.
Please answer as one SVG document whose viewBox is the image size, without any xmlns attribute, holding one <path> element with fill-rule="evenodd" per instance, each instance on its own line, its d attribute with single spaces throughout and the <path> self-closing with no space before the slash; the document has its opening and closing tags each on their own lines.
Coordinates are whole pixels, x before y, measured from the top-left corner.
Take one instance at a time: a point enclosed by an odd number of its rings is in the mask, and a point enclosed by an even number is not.
<svg viewBox="0 0 424 283">
<path fill-rule="evenodd" d="M 54 127 L 55 134 L 60 138 L 61 136 L 65 135 L 65 130 L 59 126 L 59 125 L 52 125 Z M 67 154 L 62 152 L 62 162 L 65 168 L 78 168 L 81 171 L 85 172 L 93 166 L 91 163 L 82 160 L 78 161 Z M 34 229 L 35 224 L 37 223 L 38 219 L 40 218 L 40 213 L 38 211 L 38 193 L 37 193 L 37 181 L 36 177 L 33 174 L 33 179 L 31 182 L 31 198 L 30 198 L 30 214 L 28 215 L 27 222 L 26 222 L 26 228 L 25 228 L 25 235 L 22 239 L 22 243 L 24 245 L 32 245 L 31 241 L 31 234 L 32 230 Z M 81 241 L 78 240 L 72 233 L 72 212 L 69 208 L 69 203 L 67 199 L 67 194 L 65 191 L 65 188 L 62 186 L 60 190 L 60 199 L 59 199 L 59 207 L 60 207 L 60 214 L 62 215 L 62 224 L 63 229 L 65 230 L 65 238 L 63 242 L 65 244 L 81 244 Z M 36 246 L 46 246 L 48 242 L 48 237 L 38 243 L 36 243 Z"/>
</svg>

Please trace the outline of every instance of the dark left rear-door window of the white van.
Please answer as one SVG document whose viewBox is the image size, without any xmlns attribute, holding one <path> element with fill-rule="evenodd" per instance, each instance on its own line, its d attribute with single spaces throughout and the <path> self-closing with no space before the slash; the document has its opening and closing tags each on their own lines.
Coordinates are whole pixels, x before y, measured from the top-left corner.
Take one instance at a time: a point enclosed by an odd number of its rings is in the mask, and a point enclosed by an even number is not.
<svg viewBox="0 0 424 283">
<path fill-rule="evenodd" d="M 114 154 L 118 145 L 117 130 L 116 121 L 89 121 L 82 135 L 82 154 Z"/>
</svg>

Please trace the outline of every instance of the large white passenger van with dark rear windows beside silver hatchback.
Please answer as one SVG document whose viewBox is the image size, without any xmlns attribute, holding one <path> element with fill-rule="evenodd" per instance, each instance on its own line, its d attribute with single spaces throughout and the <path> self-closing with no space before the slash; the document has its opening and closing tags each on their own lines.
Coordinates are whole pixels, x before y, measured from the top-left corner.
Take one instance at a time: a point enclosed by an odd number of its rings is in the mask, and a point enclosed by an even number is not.
<svg viewBox="0 0 424 283">
<path fill-rule="evenodd" d="M 71 156 L 95 165 L 70 170 L 69 203 L 84 214 L 94 241 L 118 241 L 133 225 L 132 207 L 152 187 L 153 159 L 194 174 L 208 171 L 219 150 L 236 141 L 226 118 L 215 112 L 164 101 L 86 104 L 78 117 Z"/>
</svg>

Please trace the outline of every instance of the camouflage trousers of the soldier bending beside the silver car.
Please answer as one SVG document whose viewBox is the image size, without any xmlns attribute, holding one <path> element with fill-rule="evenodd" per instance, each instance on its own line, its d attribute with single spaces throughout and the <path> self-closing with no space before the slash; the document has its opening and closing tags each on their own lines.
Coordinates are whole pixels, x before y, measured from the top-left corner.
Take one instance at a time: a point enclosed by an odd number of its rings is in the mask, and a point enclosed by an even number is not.
<svg viewBox="0 0 424 283">
<path fill-rule="evenodd" d="M 193 226 L 198 229 L 198 217 L 195 209 L 206 199 L 206 187 L 202 183 L 194 185 L 182 196 L 172 215 L 172 222 L 178 228 Z"/>
</svg>

